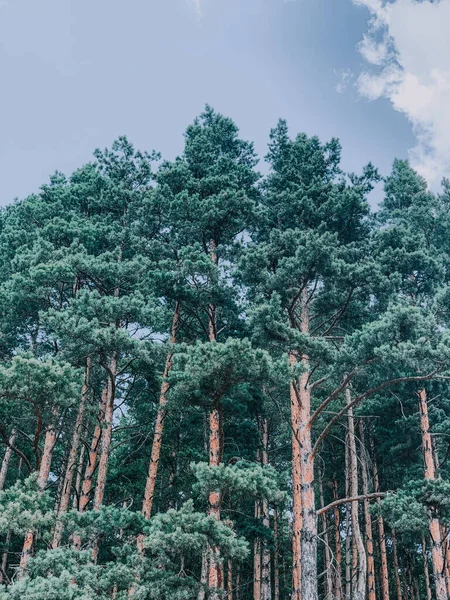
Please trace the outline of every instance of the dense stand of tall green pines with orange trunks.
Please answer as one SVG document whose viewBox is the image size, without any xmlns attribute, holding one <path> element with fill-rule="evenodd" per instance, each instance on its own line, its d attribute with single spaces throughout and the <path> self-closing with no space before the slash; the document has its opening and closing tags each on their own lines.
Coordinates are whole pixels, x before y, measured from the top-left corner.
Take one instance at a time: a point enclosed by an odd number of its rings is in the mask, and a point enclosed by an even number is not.
<svg viewBox="0 0 450 600">
<path fill-rule="evenodd" d="M 207 107 L 0 214 L 1 600 L 447 600 L 450 183 Z"/>
</svg>

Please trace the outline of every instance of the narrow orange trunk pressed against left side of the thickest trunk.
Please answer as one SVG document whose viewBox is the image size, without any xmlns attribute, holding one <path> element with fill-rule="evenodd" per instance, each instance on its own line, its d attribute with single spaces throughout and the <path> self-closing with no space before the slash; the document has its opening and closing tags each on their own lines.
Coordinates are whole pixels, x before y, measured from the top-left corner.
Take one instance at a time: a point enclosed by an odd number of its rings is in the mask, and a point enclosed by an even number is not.
<svg viewBox="0 0 450 600">
<path fill-rule="evenodd" d="M 289 355 L 289 364 L 296 363 L 294 354 Z M 291 382 L 291 427 L 292 427 L 292 600 L 301 600 L 301 531 L 302 531 L 302 501 L 300 480 L 300 444 L 298 429 L 300 422 L 299 401 L 296 385 Z"/>
</svg>

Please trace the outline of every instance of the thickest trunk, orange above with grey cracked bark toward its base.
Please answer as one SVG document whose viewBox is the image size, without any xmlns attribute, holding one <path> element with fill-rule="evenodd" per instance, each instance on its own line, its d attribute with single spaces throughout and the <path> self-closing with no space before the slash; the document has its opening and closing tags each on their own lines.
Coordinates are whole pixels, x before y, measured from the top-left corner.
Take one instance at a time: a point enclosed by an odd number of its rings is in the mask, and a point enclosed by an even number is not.
<svg viewBox="0 0 450 600">
<path fill-rule="evenodd" d="M 301 331 L 309 332 L 309 311 L 307 290 L 302 297 Z M 314 497 L 314 456 L 311 436 L 311 391 L 309 388 L 309 357 L 302 356 L 303 373 L 298 385 L 299 395 L 299 428 L 301 475 L 301 580 L 302 598 L 317 600 L 317 512 Z"/>
</svg>

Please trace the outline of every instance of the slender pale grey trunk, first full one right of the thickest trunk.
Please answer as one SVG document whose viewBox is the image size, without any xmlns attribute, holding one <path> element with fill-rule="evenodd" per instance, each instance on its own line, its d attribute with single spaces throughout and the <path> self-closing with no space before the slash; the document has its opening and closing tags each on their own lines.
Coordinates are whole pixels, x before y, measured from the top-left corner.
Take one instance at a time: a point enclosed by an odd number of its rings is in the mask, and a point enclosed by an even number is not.
<svg viewBox="0 0 450 600">
<path fill-rule="evenodd" d="M 350 446 L 350 493 L 352 496 L 358 495 L 358 456 L 356 454 L 355 438 L 355 420 L 353 417 L 353 407 L 351 406 L 350 389 L 346 389 L 348 406 L 348 438 Z M 364 542 L 359 527 L 358 501 L 352 502 L 352 534 L 355 540 L 356 552 L 358 557 L 358 576 L 355 584 L 355 593 L 353 600 L 365 600 L 366 580 L 367 580 L 367 556 L 364 548 Z"/>
</svg>

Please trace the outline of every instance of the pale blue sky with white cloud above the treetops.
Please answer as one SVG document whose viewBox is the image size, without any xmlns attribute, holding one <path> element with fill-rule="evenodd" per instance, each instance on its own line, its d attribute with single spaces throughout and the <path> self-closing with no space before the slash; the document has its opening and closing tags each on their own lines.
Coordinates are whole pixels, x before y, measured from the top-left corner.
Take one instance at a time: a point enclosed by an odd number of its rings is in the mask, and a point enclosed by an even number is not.
<svg viewBox="0 0 450 600">
<path fill-rule="evenodd" d="M 206 103 L 343 167 L 450 176 L 450 0 L 0 0 L 0 204 L 127 135 L 172 159 Z"/>
</svg>

